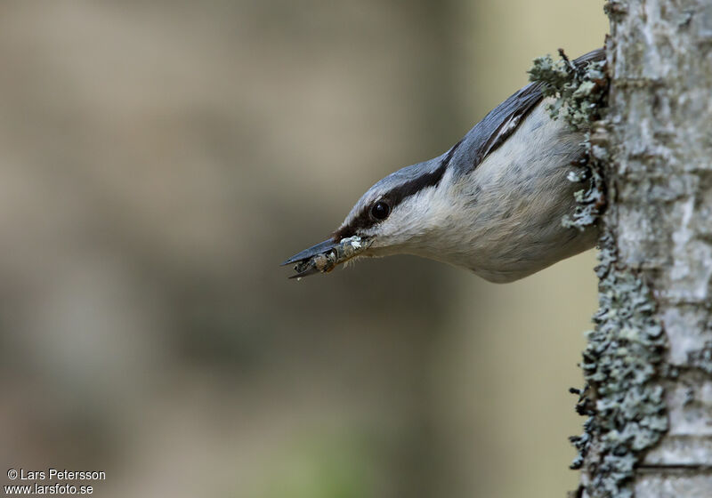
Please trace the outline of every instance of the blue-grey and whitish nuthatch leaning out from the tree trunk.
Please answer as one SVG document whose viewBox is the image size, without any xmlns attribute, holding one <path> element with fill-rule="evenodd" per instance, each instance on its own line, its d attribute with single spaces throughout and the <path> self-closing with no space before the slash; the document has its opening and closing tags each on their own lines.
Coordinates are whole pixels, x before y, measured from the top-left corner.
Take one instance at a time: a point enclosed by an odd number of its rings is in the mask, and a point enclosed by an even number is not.
<svg viewBox="0 0 712 498">
<path fill-rule="evenodd" d="M 603 50 L 574 61 L 603 60 Z M 511 282 L 595 245 L 597 230 L 566 228 L 580 189 L 567 177 L 584 131 L 546 110 L 531 83 L 440 157 L 389 174 L 359 199 L 328 240 L 295 254 L 295 277 L 357 256 L 416 254 Z"/>
</svg>

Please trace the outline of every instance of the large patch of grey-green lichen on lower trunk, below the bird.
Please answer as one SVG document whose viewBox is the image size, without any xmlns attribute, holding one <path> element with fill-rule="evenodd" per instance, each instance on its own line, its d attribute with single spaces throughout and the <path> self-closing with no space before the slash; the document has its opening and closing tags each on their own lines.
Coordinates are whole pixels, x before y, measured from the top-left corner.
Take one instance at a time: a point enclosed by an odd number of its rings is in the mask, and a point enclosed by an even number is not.
<svg viewBox="0 0 712 498">
<path fill-rule="evenodd" d="M 578 448 L 571 467 L 586 463 L 589 496 L 628 498 L 635 464 L 667 431 L 663 390 L 656 382 L 666 340 L 648 286 L 617 266 L 610 233 L 600 245 L 599 309 L 581 363 L 587 390 L 577 405 L 588 419 L 584 433 L 571 438 Z"/>
</svg>

